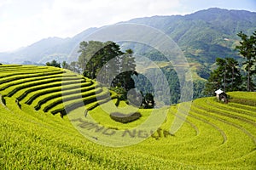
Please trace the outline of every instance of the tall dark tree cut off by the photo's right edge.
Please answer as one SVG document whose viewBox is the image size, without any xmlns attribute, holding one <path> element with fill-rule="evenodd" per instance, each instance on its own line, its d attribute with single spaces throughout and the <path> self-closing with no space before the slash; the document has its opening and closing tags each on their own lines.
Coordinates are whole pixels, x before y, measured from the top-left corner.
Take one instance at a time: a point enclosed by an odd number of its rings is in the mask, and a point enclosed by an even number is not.
<svg viewBox="0 0 256 170">
<path fill-rule="evenodd" d="M 239 54 L 246 61 L 243 63 L 245 70 L 247 72 L 247 91 L 253 91 L 255 85 L 252 81 L 252 76 L 256 73 L 256 31 L 253 32 L 253 35 L 248 37 L 242 31 L 237 34 L 238 37 L 241 37 L 240 45 L 236 46 L 236 49 L 239 50 Z"/>
</svg>

